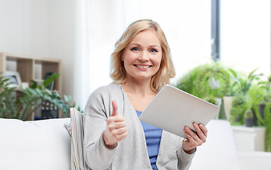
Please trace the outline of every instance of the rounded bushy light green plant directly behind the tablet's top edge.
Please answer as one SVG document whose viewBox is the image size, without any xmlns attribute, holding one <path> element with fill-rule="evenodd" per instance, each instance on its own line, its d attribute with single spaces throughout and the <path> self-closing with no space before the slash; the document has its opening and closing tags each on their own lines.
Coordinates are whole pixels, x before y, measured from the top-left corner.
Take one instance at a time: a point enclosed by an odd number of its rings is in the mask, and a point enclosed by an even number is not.
<svg viewBox="0 0 271 170">
<path fill-rule="evenodd" d="M 229 71 L 220 62 L 202 64 L 192 69 L 175 85 L 178 89 L 215 103 L 229 93 Z"/>
</svg>

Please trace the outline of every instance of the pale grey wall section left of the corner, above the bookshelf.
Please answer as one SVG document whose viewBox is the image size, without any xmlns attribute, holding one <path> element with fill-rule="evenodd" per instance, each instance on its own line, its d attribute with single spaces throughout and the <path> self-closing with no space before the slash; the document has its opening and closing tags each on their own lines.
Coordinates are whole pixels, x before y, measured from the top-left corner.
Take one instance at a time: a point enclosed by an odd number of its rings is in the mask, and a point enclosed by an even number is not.
<svg viewBox="0 0 271 170">
<path fill-rule="evenodd" d="M 0 0 L 0 52 L 47 57 L 48 1 Z"/>
</svg>

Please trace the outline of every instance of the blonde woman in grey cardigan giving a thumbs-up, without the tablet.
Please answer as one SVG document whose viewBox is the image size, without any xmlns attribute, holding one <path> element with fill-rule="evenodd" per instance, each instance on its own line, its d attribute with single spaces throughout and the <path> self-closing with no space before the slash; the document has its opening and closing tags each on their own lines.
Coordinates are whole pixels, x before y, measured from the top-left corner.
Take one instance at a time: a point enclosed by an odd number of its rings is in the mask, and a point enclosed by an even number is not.
<svg viewBox="0 0 271 170">
<path fill-rule="evenodd" d="M 91 94 L 84 111 L 84 155 L 92 169 L 188 169 L 204 125 L 187 139 L 141 123 L 138 116 L 175 76 L 166 36 L 151 20 L 132 23 L 115 44 L 113 84 Z"/>
</svg>

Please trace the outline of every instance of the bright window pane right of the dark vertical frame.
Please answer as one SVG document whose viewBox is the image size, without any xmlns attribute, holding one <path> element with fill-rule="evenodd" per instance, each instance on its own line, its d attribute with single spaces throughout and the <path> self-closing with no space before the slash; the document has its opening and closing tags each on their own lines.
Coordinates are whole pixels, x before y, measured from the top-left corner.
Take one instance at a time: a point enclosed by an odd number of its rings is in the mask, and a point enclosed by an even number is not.
<svg viewBox="0 0 271 170">
<path fill-rule="evenodd" d="M 220 1 L 221 62 L 270 74 L 270 1 Z"/>
</svg>

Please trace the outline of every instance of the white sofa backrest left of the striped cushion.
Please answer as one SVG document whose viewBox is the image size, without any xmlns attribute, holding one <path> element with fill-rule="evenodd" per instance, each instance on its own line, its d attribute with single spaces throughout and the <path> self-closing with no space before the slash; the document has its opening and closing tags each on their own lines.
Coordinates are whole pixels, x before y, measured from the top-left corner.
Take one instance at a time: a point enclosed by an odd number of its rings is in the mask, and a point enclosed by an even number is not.
<svg viewBox="0 0 271 170">
<path fill-rule="evenodd" d="M 0 119 L 1 170 L 70 169 L 69 118 L 23 122 Z"/>
</svg>

